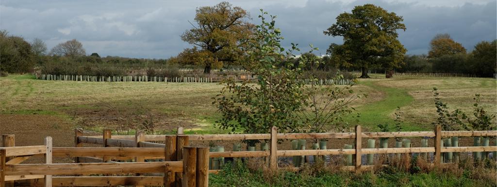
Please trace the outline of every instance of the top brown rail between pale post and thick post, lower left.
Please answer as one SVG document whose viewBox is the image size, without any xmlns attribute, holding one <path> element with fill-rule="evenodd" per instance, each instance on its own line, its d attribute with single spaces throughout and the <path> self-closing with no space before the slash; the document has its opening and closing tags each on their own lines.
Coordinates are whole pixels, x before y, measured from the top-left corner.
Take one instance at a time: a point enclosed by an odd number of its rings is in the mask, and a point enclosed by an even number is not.
<svg viewBox="0 0 497 187">
<path fill-rule="evenodd" d="M 162 144 L 164 145 L 164 144 Z M 123 147 L 54 147 L 53 156 L 70 157 L 164 157 L 164 148 L 123 148 Z"/>
</svg>

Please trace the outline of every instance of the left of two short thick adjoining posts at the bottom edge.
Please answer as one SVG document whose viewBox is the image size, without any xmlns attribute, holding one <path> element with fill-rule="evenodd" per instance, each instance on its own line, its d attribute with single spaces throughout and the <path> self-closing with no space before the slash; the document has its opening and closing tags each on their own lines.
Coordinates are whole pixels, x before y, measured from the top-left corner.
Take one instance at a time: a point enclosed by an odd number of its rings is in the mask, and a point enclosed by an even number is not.
<svg viewBox="0 0 497 187">
<path fill-rule="evenodd" d="M 197 173 L 197 148 L 183 148 L 183 179 L 181 187 L 195 187 Z"/>
</svg>

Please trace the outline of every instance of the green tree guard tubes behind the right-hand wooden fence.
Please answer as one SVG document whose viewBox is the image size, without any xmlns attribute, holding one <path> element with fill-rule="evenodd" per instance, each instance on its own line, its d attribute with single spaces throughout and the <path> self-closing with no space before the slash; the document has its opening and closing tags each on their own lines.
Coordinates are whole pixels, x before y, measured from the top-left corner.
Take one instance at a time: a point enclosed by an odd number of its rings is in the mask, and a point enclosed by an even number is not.
<svg viewBox="0 0 497 187">
<path fill-rule="evenodd" d="M 388 138 L 380 138 L 380 148 L 388 148 Z M 328 141 L 326 140 L 321 140 L 319 143 L 313 143 L 312 144 L 312 149 L 313 150 L 325 150 L 327 149 L 327 143 Z M 440 142 L 441 147 L 459 147 L 459 137 L 450 137 L 450 138 L 443 138 L 442 141 Z M 497 140 L 494 142 L 495 145 L 497 146 Z M 305 139 L 298 139 L 298 140 L 292 140 L 291 145 L 292 145 L 292 150 L 306 150 L 306 144 L 307 141 Z M 375 139 L 368 139 L 367 141 L 367 148 L 376 148 L 376 140 Z M 489 146 L 490 145 L 490 137 L 474 137 L 474 144 L 473 146 Z M 428 139 L 423 138 L 421 139 L 421 147 L 428 147 Z M 411 140 L 409 139 L 403 139 L 403 140 L 397 140 L 395 141 L 395 148 L 411 148 Z M 343 146 L 343 149 L 354 149 L 354 146 L 352 144 L 345 144 Z M 268 143 L 266 142 L 261 142 L 260 143 L 260 151 L 268 151 L 269 146 Z M 210 152 L 224 152 L 225 149 L 223 146 L 216 146 L 216 147 L 211 147 Z M 233 151 L 242 151 L 242 145 L 240 143 L 233 144 Z M 256 146 L 248 146 L 247 151 L 256 151 Z M 375 154 L 366 154 L 366 164 L 367 165 L 373 165 L 374 164 L 374 155 Z M 415 153 L 416 156 L 419 158 L 423 158 L 425 160 L 428 159 L 428 153 Z M 482 159 L 487 159 L 490 158 L 490 152 L 473 152 L 472 153 L 473 158 L 475 161 L 479 161 Z M 497 151 L 493 152 L 493 158 L 496 158 Z M 401 159 L 402 154 L 401 153 L 395 153 L 392 154 L 392 156 L 395 156 L 397 159 Z M 353 157 L 352 155 L 346 155 L 345 156 L 345 162 L 347 166 L 353 166 Z M 313 156 L 313 160 L 316 161 L 319 156 Z M 322 157 L 324 159 L 324 156 Z M 442 163 L 457 163 L 459 162 L 459 153 L 455 152 L 446 152 L 442 153 L 440 155 L 440 159 Z M 305 156 L 293 156 L 292 157 L 293 165 L 294 167 L 301 167 L 304 163 L 309 163 L 310 160 L 306 159 Z M 209 169 L 210 170 L 219 170 L 222 169 L 223 164 L 225 163 L 225 159 L 220 157 L 220 158 L 210 158 L 209 160 Z"/>
</svg>

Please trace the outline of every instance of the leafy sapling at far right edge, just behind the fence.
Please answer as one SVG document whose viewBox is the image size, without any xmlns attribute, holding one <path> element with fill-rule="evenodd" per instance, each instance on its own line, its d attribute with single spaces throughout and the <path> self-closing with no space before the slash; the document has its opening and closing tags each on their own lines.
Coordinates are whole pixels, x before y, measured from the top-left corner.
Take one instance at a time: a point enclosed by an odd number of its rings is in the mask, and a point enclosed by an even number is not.
<svg viewBox="0 0 497 187">
<path fill-rule="evenodd" d="M 488 113 L 480 104 L 480 94 L 475 94 L 473 98 L 475 100 L 475 109 L 473 110 L 473 116 L 475 119 L 468 118 L 468 122 L 473 127 L 473 130 L 496 130 L 496 114 Z"/>
</svg>

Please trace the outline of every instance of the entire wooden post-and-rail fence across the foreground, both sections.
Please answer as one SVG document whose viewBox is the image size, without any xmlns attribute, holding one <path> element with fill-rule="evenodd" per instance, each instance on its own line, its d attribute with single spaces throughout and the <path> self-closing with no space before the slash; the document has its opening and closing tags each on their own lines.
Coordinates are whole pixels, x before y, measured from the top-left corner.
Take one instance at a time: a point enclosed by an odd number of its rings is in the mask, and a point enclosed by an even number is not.
<svg viewBox="0 0 497 187">
<path fill-rule="evenodd" d="M 356 126 L 355 132 L 348 133 L 278 133 L 276 127 L 271 128 L 267 134 L 183 134 L 183 129 L 178 128 L 174 135 L 111 135 L 110 129 L 105 129 L 101 136 L 83 136 L 81 129 L 75 130 L 76 147 L 25 146 L 4 147 L 1 150 L 2 174 L 6 176 L 1 181 L 16 180 L 19 186 L 48 186 L 46 181 L 50 175 L 88 175 L 88 174 L 123 174 L 123 173 L 163 173 L 164 176 L 102 176 L 102 177 L 51 177 L 52 186 L 171 186 L 173 183 L 184 183 L 191 186 L 206 185 L 208 173 L 218 173 L 219 170 L 209 170 L 209 162 L 216 158 L 234 157 L 266 157 L 267 166 L 277 169 L 278 157 L 314 156 L 314 155 L 349 155 L 354 162 L 351 166 L 344 166 L 344 170 L 361 172 L 373 168 L 373 165 L 363 165 L 361 155 L 368 154 L 400 154 L 400 153 L 434 153 L 433 163 L 441 165 L 442 153 L 452 152 L 494 152 L 496 146 L 490 146 L 489 141 L 484 141 L 483 146 L 448 147 L 442 143 L 442 137 L 491 137 L 497 131 L 441 131 L 437 126 L 434 131 L 416 132 L 362 132 L 361 126 Z M 398 137 L 433 137 L 434 144 L 428 147 L 427 141 L 422 147 L 375 148 L 369 146 L 362 148 L 363 138 L 398 138 Z M 314 150 L 278 150 L 278 140 L 287 139 L 354 139 L 354 146 L 344 149 L 314 149 Z M 267 149 L 261 151 L 219 151 L 210 152 L 208 148 L 188 147 L 194 141 L 213 140 L 266 140 Z M 153 143 L 151 141 L 161 141 Z M 421 140 L 423 141 L 423 140 Z M 368 140 L 369 142 L 369 140 Z M 83 147 L 83 144 L 99 144 L 101 148 Z M 49 145 L 49 143 L 47 143 Z M 494 144 L 495 145 L 495 144 Z M 8 141 L 7 141 L 8 146 Z M 51 150 L 51 152 L 49 151 Z M 181 151 L 180 151 L 181 150 Z M 54 157 L 75 157 L 79 164 L 19 164 L 26 159 L 25 155 L 38 155 L 48 153 Z M 195 153 L 194 153 L 195 152 Z M 200 154 L 201 153 L 201 154 Z M 196 155 L 196 156 L 192 156 Z M 205 156 L 199 156 L 205 155 Z M 11 160 L 5 157 L 16 156 Z M 347 157 L 349 157 L 347 156 Z M 196 158 L 196 160 L 194 159 Z M 489 158 L 487 154 L 487 158 Z M 157 160 L 162 162 L 153 162 Z M 305 158 L 307 160 L 307 158 Z M 116 161 L 134 160 L 137 163 L 118 163 Z M 195 161 L 193 161 L 195 160 Z M 148 161 L 148 162 L 144 162 Z M 448 160 L 447 160 L 448 161 Z M 446 162 L 447 162 L 446 161 Z M 100 162 L 100 163 L 86 163 Z M 196 162 L 196 164 L 194 164 Z M 218 162 L 222 162 L 221 159 Z M 199 164 L 200 163 L 200 164 Z M 4 166 L 5 165 L 5 166 Z M 193 166 L 193 167 L 192 167 Z M 195 168 L 196 166 L 196 168 Z M 195 168 L 195 169 L 193 169 Z M 296 168 L 287 168 L 295 170 Z M 176 173 L 176 174 L 174 174 Z M 193 177 L 195 176 L 195 177 Z M 201 176 L 202 179 L 199 179 Z M 48 179 L 48 180 L 47 180 Z M 193 180 L 195 179 L 195 180 Z M 193 181 L 193 182 L 192 182 Z M 3 187 L 3 186 L 2 186 Z"/>
</svg>

